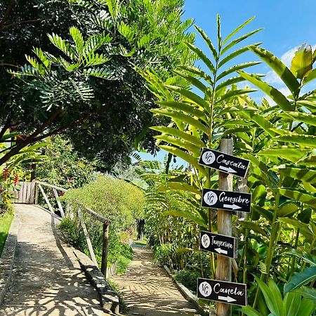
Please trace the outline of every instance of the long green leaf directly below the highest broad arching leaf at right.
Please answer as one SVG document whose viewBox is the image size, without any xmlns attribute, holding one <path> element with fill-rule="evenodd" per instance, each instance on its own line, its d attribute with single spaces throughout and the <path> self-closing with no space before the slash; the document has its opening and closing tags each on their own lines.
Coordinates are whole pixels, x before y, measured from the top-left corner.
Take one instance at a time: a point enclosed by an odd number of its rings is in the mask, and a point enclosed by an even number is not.
<svg viewBox="0 0 316 316">
<path fill-rule="evenodd" d="M 251 82 L 251 84 L 254 84 L 256 87 L 261 89 L 265 94 L 267 94 L 272 100 L 281 107 L 282 110 L 284 111 L 291 111 L 293 110 L 293 106 L 287 100 L 287 98 L 279 92 L 276 88 L 273 88 L 266 82 L 262 81 L 258 76 L 255 74 L 247 74 L 246 72 L 238 71 L 238 74 L 240 74 L 244 79 L 248 80 Z"/>
</svg>

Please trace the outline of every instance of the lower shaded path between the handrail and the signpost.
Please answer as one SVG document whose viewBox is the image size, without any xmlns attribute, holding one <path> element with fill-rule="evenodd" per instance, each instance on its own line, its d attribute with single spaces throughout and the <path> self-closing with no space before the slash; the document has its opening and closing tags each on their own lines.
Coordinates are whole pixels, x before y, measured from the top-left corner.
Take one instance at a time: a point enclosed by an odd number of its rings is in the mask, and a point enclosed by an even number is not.
<svg viewBox="0 0 316 316">
<path fill-rule="evenodd" d="M 196 315 L 163 268 L 152 264 L 152 250 L 133 247 L 134 258 L 124 275 L 112 277 L 129 308 L 128 315 Z"/>
</svg>

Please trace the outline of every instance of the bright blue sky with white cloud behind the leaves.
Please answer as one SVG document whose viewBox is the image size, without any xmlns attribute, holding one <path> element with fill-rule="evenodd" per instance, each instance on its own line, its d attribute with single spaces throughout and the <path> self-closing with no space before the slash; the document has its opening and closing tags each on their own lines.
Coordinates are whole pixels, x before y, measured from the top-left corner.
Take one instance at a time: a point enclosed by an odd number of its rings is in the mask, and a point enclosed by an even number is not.
<svg viewBox="0 0 316 316">
<path fill-rule="evenodd" d="M 298 46 L 306 43 L 314 46 L 314 49 L 316 47 L 316 0 L 185 0 L 184 9 L 183 18 L 193 18 L 195 24 L 204 29 L 214 43 L 216 43 L 217 13 L 220 14 L 224 38 L 242 22 L 256 16 L 239 35 L 258 28 L 263 30 L 244 44 L 263 42 L 261 47 L 277 55 L 288 66 Z M 194 30 L 191 29 L 192 32 Z M 195 44 L 203 51 L 208 51 L 199 35 L 196 37 Z M 258 60 L 256 55 L 249 52 L 242 55 L 237 62 L 255 60 Z M 265 64 L 247 68 L 246 72 L 266 74 L 266 81 L 283 93 L 287 92 L 277 76 Z M 309 90 L 315 87 L 315 84 L 312 84 Z M 261 97 L 259 94 L 255 96 L 255 99 Z M 142 154 L 142 157 L 162 160 L 165 154 L 166 152 L 159 152 L 155 158 Z"/>
</svg>

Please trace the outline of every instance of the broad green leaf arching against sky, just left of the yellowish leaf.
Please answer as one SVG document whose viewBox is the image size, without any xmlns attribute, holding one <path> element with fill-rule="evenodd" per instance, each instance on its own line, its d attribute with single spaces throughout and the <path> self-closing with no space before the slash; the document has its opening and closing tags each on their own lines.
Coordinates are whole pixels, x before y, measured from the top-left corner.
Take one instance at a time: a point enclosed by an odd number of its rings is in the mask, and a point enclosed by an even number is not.
<svg viewBox="0 0 316 316">
<path fill-rule="evenodd" d="M 257 46 L 251 46 L 249 49 L 258 55 L 258 57 L 260 57 L 269 67 L 272 68 L 272 70 L 275 71 L 275 73 L 289 88 L 294 96 L 298 96 L 300 84 L 296 80 L 294 74 L 292 74 L 291 70 L 289 70 L 289 68 L 284 65 L 284 63 L 279 60 L 279 58 L 270 53 L 270 51 Z"/>
</svg>

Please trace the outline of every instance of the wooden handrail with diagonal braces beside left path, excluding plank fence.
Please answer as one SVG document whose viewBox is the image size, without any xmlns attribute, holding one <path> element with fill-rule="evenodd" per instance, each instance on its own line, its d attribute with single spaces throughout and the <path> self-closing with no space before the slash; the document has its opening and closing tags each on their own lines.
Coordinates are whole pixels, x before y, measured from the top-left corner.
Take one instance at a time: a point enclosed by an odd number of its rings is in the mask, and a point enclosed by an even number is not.
<svg viewBox="0 0 316 316">
<path fill-rule="evenodd" d="M 49 202 L 49 199 L 48 199 L 45 191 L 43 190 L 43 187 L 41 187 L 41 186 L 43 185 L 43 186 L 46 186 L 46 187 L 51 187 L 53 189 L 53 193 L 54 193 L 55 199 L 57 201 L 58 208 L 60 209 L 60 214 L 61 214 L 62 218 L 65 218 L 65 212 L 62 209 L 62 204 L 58 200 L 58 192 L 57 192 L 57 190 L 58 191 L 62 191 L 62 192 L 67 192 L 67 189 L 64 189 L 63 187 L 58 187 L 57 185 L 51 185 L 49 183 L 41 182 L 41 181 L 38 181 L 38 180 L 35 180 L 34 182 L 37 184 L 35 204 L 37 204 L 37 201 L 38 201 L 38 194 L 39 194 L 38 188 L 39 188 L 39 190 L 41 190 L 41 194 L 43 195 L 43 197 L 45 199 L 46 204 L 48 205 L 48 209 L 51 211 L 51 213 L 54 213 L 53 207 L 51 206 L 51 203 Z M 82 207 L 83 211 L 86 211 L 93 218 L 95 218 L 96 220 L 99 220 L 101 223 L 103 223 L 103 253 L 102 253 L 101 272 L 106 277 L 110 219 L 106 218 L 106 217 L 104 217 L 104 216 L 102 216 L 102 215 L 100 215 L 98 213 L 96 213 L 96 211 L 93 211 L 92 209 L 89 209 L 88 207 L 84 206 L 84 204 L 82 204 L 79 201 L 74 200 L 74 203 L 79 204 Z M 79 222 L 81 223 L 82 229 L 84 230 L 84 235 L 86 237 L 86 242 L 88 244 L 88 250 L 89 250 L 91 259 L 92 259 L 93 263 L 98 265 L 98 263 L 96 261 L 96 256 L 95 256 L 93 248 L 92 248 L 90 236 L 88 234 L 88 230 L 86 229 L 86 225 L 84 223 L 84 220 L 83 220 L 83 218 L 81 216 L 80 209 L 78 209 L 77 212 L 78 212 Z"/>
</svg>

